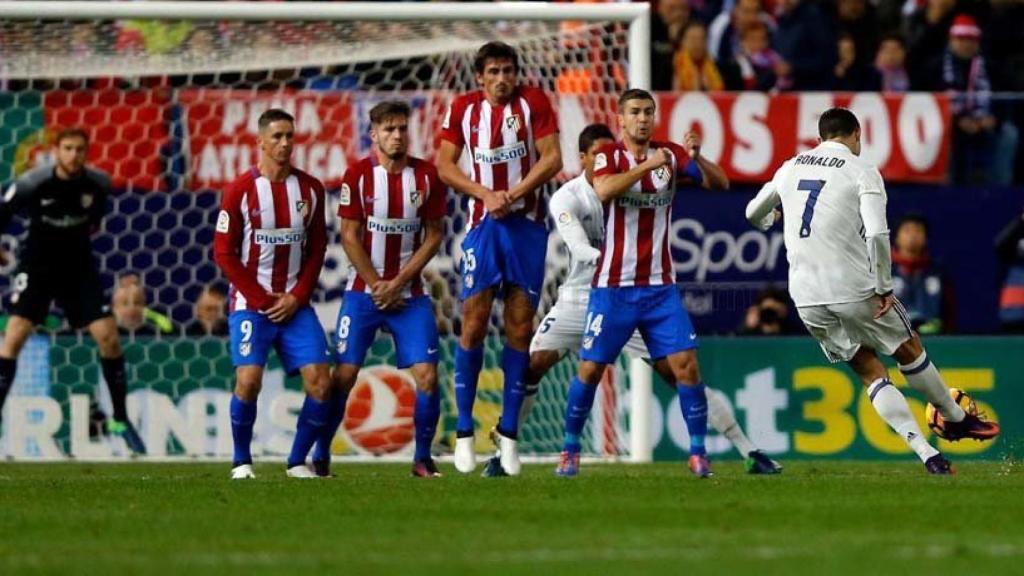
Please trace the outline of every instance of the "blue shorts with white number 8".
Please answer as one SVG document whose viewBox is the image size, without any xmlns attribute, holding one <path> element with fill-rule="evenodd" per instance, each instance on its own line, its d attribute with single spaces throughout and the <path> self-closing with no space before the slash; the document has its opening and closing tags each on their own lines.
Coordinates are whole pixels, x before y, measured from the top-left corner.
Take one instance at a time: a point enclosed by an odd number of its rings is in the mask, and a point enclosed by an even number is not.
<svg viewBox="0 0 1024 576">
<path fill-rule="evenodd" d="M 409 368 L 414 364 L 437 364 L 437 321 L 430 296 L 406 299 L 406 307 L 383 312 L 366 292 L 345 292 L 334 331 L 335 361 L 362 366 L 367 351 L 384 328 L 394 339 L 395 364 Z"/>
</svg>

